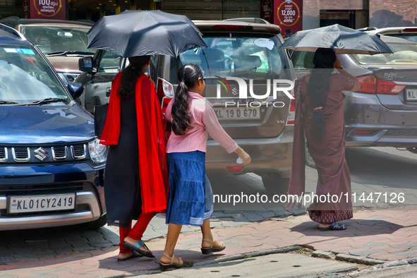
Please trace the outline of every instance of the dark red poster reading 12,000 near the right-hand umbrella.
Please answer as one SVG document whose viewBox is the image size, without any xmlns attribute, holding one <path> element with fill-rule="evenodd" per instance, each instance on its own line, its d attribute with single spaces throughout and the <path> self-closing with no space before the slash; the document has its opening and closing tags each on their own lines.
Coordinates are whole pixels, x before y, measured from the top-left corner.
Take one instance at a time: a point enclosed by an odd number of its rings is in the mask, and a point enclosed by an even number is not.
<svg viewBox="0 0 417 278">
<path fill-rule="evenodd" d="M 303 0 L 274 0 L 274 24 L 281 27 L 282 37 L 303 30 Z"/>
</svg>

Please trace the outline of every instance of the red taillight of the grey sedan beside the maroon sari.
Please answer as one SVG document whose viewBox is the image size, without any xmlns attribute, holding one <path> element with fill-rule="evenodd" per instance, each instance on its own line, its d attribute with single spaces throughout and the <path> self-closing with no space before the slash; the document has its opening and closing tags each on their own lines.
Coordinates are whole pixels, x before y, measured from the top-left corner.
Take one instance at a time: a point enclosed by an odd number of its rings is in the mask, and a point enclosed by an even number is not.
<svg viewBox="0 0 417 278">
<path fill-rule="evenodd" d="M 397 85 L 392 81 L 380 80 L 373 75 L 361 76 L 358 78 L 361 83 L 361 89 L 358 92 L 369 94 L 398 95 L 406 85 Z"/>
</svg>

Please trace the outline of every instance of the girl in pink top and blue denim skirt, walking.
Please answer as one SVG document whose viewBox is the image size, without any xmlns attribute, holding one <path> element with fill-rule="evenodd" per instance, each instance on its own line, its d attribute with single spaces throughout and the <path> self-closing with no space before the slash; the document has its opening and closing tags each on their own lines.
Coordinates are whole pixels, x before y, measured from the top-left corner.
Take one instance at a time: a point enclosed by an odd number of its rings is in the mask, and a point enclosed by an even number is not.
<svg viewBox="0 0 417 278">
<path fill-rule="evenodd" d="M 235 152 L 241 157 L 243 164 L 250 163 L 250 156 L 227 135 L 217 121 L 212 105 L 201 96 L 205 87 L 203 78 L 199 66 L 183 66 L 179 70 L 181 83 L 165 114 L 167 121 L 172 123 L 172 132 L 167 142 L 169 198 L 166 222 L 169 226 L 164 254 L 159 262 L 161 270 L 183 265 L 181 258 L 174 256 L 182 225 L 201 226 L 203 254 L 226 248 L 224 243 L 213 240 L 210 231 L 212 210 L 205 207 L 207 133 L 227 152 Z"/>
</svg>

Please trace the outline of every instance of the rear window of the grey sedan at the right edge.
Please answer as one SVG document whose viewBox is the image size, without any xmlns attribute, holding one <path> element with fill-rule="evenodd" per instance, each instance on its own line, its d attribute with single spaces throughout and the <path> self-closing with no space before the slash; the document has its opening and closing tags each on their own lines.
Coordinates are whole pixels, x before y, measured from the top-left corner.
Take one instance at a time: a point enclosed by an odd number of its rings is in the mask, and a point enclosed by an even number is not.
<svg viewBox="0 0 417 278">
<path fill-rule="evenodd" d="M 360 65 L 417 65 L 417 45 L 387 43 L 392 54 L 351 54 L 351 58 Z"/>
</svg>

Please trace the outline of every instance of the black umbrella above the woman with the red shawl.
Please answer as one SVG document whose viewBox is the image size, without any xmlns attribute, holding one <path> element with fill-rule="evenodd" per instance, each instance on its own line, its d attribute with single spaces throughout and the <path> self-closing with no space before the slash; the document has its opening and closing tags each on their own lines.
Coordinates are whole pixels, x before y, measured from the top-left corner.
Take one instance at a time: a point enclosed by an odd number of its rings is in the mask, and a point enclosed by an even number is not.
<svg viewBox="0 0 417 278">
<path fill-rule="evenodd" d="M 189 18 L 163 11 L 123 11 L 116 16 L 104 16 L 87 35 L 88 47 L 125 58 L 178 56 L 195 47 L 207 47 L 200 30 Z"/>
</svg>

